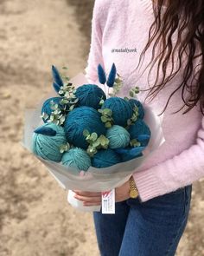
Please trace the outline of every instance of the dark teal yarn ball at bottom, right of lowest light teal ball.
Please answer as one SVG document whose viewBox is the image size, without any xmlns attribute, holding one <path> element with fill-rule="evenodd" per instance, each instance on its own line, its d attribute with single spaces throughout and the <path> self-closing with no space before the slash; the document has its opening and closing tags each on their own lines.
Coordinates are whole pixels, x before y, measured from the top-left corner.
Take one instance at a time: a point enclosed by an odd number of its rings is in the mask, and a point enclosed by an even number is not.
<svg viewBox="0 0 204 256">
<path fill-rule="evenodd" d="M 120 157 L 114 150 L 111 148 L 101 149 L 99 152 L 94 154 L 92 158 L 92 167 L 111 167 L 119 162 L 121 162 Z"/>
</svg>

